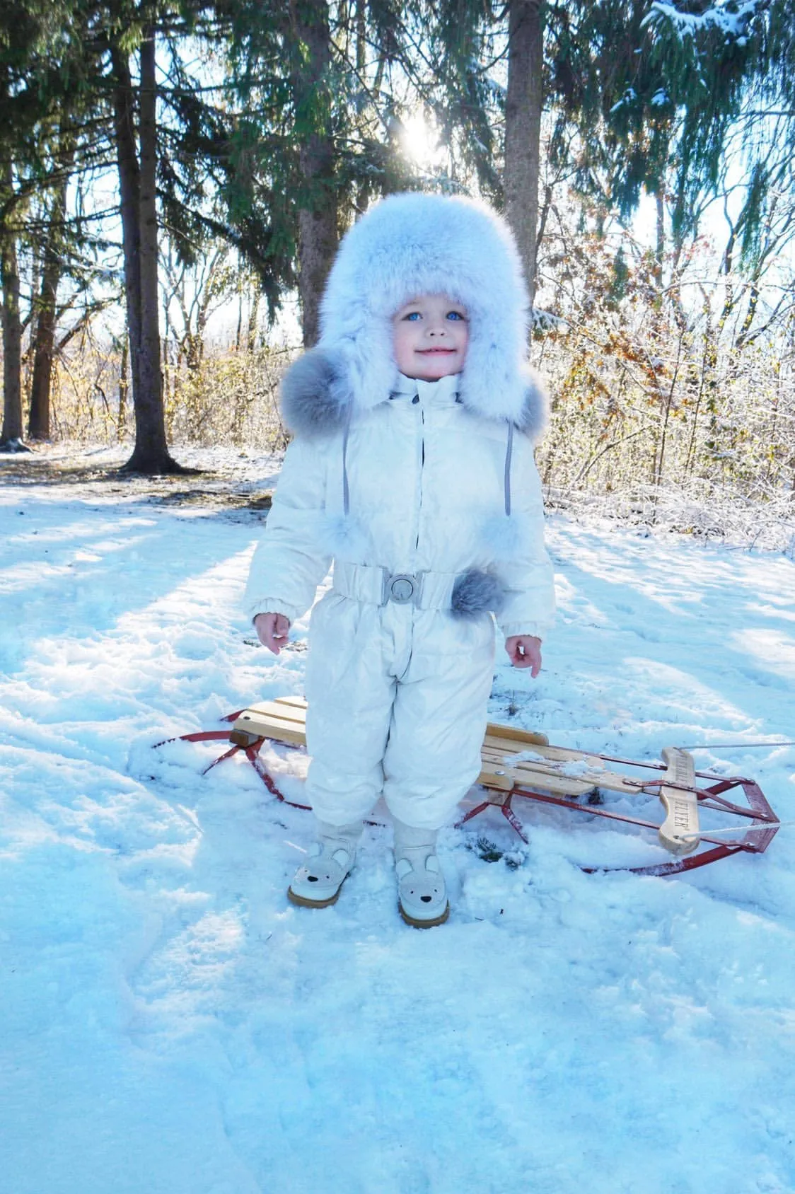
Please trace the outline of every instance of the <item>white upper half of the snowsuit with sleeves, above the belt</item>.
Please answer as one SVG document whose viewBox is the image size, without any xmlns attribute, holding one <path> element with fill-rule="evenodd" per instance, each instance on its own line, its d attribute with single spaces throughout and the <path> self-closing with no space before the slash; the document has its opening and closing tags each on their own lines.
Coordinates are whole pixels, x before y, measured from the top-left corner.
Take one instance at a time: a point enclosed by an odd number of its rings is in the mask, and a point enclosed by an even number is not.
<svg viewBox="0 0 795 1194">
<path fill-rule="evenodd" d="M 296 410 L 307 373 L 318 371 L 318 351 L 284 386 L 294 425 L 302 423 Z M 358 412 L 347 427 L 319 429 L 303 419 L 252 564 L 252 618 L 281 613 L 295 622 L 338 560 L 467 578 L 454 622 L 491 609 L 506 638 L 544 635 L 554 587 L 532 443 L 505 420 L 464 406 L 460 382 L 458 375 L 438 382 L 398 375 L 387 400 Z"/>
</svg>

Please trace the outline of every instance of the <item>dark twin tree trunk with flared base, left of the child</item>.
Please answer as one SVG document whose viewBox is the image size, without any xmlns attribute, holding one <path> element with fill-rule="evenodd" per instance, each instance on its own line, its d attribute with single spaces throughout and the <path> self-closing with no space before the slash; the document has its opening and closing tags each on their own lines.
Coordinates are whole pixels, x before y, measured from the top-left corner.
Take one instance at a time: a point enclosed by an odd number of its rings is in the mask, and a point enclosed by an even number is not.
<svg viewBox="0 0 795 1194">
<path fill-rule="evenodd" d="M 149 29 L 141 44 L 140 161 L 135 143 L 132 81 L 129 63 L 118 45 L 111 48 L 111 61 L 115 78 L 113 124 L 135 413 L 135 448 L 124 464 L 124 470 L 177 473 L 180 472 L 180 467 L 172 460 L 166 442 L 160 375 L 154 31 Z"/>
</svg>

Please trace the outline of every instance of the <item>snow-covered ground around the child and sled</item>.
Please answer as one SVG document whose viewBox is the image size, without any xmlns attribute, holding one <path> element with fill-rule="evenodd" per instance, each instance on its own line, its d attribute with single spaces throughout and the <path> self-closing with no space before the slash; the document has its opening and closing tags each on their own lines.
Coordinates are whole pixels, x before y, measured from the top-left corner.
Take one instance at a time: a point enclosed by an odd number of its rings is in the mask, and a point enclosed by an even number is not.
<svg viewBox="0 0 795 1194">
<path fill-rule="evenodd" d="M 634 830 L 492 816 L 444 832 L 426 933 L 372 827 L 335 907 L 290 906 L 307 814 L 153 744 L 300 694 L 306 622 L 255 646 L 254 516 L 161 498 L 0 484 L 2 1194 L 791 1194 L 795 827 L 657 879 L 578 867 L 658 860 Z M 493 716 L 704 744 L 795 820 L 795 564 L 549 530 L 559 626 Z"/>
</svg>

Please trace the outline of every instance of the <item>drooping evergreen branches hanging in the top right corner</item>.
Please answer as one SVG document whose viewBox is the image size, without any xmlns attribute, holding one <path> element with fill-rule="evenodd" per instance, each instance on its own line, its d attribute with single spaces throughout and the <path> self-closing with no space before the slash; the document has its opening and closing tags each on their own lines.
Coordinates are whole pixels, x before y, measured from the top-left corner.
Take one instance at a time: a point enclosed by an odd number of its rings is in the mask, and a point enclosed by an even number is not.
<svg viewBox="0 0 795 1194">
<path fill-rule="evenodd" d="M 759 250 L 769 205 L 791 181 L 795 10 L 787 0 L 603 0 L 554 10 L 553 152 L 580 130 L 577 177 L 624 217 L 643 191 L 672 196 L 676 238 L 742 159 L 742 253 Z M 732 134 L 742 129 L 741 146 Z M 606 179 L 606 181 L 602 181 Z"/>
</svg>

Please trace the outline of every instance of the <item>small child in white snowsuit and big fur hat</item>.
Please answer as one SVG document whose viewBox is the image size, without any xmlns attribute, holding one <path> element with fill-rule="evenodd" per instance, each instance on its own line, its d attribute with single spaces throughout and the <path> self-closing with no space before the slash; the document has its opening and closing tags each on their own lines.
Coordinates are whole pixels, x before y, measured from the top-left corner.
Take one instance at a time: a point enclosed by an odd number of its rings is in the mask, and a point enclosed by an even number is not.
<svg viewBox="0 0 795 1194">
<path fill-rule="evenodd" d="M 246 598 L 273 653 L 334 565 L 309 632 L 318 838 L 288 891 L 295 904 L 337 900 L 383 794 L 401 916 L 418 928 L 448 918 L 436 837 L 480 773 L 492 614 L 512 664 L 536 676 L 554 610 L 526 320 L 494 213 L 398 195 L 343 240 L 320 343 L 284 378 L 295 438 Z"/>
</svg>

